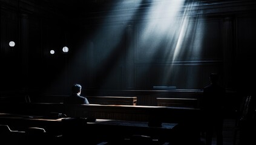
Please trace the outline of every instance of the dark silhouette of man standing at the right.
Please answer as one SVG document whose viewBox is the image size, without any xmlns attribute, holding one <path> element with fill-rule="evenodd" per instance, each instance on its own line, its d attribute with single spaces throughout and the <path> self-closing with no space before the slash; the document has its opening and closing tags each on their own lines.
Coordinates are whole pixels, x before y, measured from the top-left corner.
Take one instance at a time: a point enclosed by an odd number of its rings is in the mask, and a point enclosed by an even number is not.
<svg viewBox="0 0 256 145">
<path fill-rule="evenodd" d="M 223 145 L 223 111 L 225 89 L 218 85 L 218 74 L 211 73 L 210 84 L 203 88 L 202 111 L 205 118 L 206 145 L 212 144 L 212 137 L 216 135 L 217 145 Z"/>
</svg>

